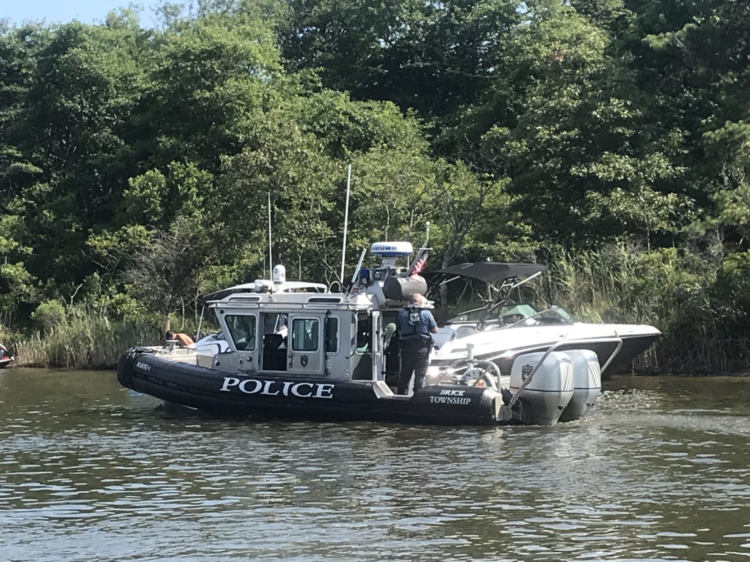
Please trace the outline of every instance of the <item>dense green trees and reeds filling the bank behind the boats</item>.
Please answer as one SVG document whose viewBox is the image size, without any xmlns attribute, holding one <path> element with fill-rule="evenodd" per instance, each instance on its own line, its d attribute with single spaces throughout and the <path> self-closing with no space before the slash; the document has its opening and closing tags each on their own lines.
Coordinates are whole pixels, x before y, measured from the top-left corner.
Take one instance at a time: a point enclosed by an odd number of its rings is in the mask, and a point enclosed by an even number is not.
<svg viewBox="0 0 750 562">
<path fill-rule="evenodd" d="M 275 262 L 333 282 L 352 163 L 350 267 L 429 220 L 433 268 L 544 262 L 547 300 L 660 327 L 649 366 L 746 370 L 748 35 L 736 0 L 0 22 L 0 339 L 86 364 L 84 334 L 191 329 L 197 294 L 268 276 L 267 193 Z"/>
</svg>

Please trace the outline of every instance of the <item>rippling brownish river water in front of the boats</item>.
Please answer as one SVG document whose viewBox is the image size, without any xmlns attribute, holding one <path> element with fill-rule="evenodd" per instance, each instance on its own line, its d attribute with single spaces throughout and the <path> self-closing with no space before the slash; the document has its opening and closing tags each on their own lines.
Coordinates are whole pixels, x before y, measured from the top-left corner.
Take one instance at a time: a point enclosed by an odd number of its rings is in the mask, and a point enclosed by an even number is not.
<svg viewBox="0 0 750 562">
<path fill-rule="evenodd" d="M 0 561 L 750 560 L 750 379 L 619 378 L 553 428 L 155 405 L 0 372 Z"/>
</svg>

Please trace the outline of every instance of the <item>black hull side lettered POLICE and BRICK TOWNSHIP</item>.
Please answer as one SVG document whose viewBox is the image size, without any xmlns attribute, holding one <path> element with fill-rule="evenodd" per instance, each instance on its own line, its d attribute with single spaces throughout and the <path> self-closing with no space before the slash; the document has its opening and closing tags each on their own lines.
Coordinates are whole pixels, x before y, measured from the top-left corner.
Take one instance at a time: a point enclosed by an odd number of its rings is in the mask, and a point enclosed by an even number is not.
<svg viewBox="0 0 750 562">
<path fill-rule="evenodd" d="M 497 425 L 502 396 L 488 388 L 425 387 L 395 396 L 380 381 L 335 381 L 292 375 L 239 374 L 175 363 L 145 348 L 120 358 L 124 387 L 222 416 L 371 420 L 443 425 Z"/>
</svg>

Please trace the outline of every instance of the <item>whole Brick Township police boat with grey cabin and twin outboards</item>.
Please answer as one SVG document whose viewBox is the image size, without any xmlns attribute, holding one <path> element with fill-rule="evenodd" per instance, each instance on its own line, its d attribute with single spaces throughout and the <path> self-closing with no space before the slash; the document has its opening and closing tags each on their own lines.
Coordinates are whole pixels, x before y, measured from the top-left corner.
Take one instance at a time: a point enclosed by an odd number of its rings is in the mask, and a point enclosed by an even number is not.
<svg viewBox="0 0 750 562">
<path fill-rule="evenodd" d="M 118 381 L 220 415 L 553 425 L 590 410 L 601 389 L 598 357 L 570 338 L 543 352 L 516 353 L 502 367 L 477 357 L 469 343 L 460 357 L 431 369 L 422 390 L 413 393 L 410 385 L 407 395 L 396 394 L 393 323 L 414 293 L 427 292 L 414 274 L 425 249 L 408 267 L 398 265 L 413 255 L 407 242 L 373 244 L 371 254 L 380 266 L 362 268 L 363 252 L 346 291 L 275 292 L 261 280 L 252 290 L 217 295 L 208 307 L 226 349 L 201 354 L 173 342 L 130 348 L 118 362 Z M 277 266 L 273 282 L 285 280 Z M 615 336 L 612 343 L 610 360 L 622 342 Z"/>
</svg>

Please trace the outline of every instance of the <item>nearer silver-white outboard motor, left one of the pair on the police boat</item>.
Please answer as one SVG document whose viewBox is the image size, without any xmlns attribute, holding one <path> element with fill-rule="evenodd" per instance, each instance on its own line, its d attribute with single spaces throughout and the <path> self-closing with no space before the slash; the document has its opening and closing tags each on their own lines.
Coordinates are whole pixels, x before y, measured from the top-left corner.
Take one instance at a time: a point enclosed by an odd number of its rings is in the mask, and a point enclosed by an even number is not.
<svg viewBox="0 0 750 562">
<path fill-rule="evenodd" d="M 516 394 L 520 385 L 532 374 L 544 353 L 519 355 L 511 367 L 510 390 Z M 553 351 L 523 388 L 520 398 L 529 403 L 531 423 L 553 426 L 573 397 L 573 373 L 570 357 Z"/>
</svg>

